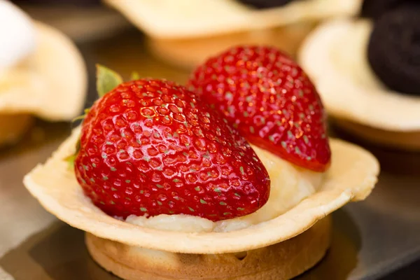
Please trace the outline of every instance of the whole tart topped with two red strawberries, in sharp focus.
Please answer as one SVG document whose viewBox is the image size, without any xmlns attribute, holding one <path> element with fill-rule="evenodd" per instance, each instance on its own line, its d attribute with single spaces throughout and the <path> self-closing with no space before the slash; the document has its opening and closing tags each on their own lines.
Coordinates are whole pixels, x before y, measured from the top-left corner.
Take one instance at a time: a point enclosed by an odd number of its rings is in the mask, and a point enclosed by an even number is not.
<svg viewBox="0 0 420 280">
<path fill-rule="evenodd" d="M 226 50 L 186 86 L 97 76 L 81 127 L 24 183 L 123 279 L 291 279 L 328 250 L 328 215 L 377 181 L 275 48 Z"/>
</svg>

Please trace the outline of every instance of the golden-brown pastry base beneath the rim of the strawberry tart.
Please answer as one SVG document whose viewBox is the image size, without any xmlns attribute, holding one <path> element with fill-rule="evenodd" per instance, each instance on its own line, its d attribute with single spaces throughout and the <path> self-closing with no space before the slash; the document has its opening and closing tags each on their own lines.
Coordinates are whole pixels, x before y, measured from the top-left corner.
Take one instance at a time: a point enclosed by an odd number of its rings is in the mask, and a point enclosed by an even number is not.
<svg viewBox="0 0 420 280">
<path fill-rule="evenodd" d="M 327 216 L 300 235 L 241 253 L 185 254 L 153 251 L 86 233 L 92 258 L 125 280 L 286 280 L 313 267 L 330 246 Z"/>
</svg>

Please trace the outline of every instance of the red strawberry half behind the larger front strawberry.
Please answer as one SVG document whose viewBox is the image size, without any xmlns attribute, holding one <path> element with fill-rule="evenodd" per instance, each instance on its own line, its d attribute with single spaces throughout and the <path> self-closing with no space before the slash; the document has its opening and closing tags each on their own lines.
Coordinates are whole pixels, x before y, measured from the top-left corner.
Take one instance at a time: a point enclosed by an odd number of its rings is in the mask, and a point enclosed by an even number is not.
<svg viewBox="0 0 420 280">
<path fill-rule="evenodd" d="M 255 146 L 306 169 L 328 168 L 321 99 L 300 66 L 283 52 L 231 48 L 198 66 L 188 87 Z"/>
</svg>

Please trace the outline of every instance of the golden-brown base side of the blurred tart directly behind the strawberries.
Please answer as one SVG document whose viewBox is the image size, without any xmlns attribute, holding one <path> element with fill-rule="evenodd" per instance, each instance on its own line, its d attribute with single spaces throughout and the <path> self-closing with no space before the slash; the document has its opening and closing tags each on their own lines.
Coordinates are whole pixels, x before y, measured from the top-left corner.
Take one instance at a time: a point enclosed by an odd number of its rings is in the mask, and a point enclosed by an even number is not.
<svg viewBox="0 0 420 280">
<path fill-rule="evenodd" d="M 203 36 L 199 38 L 165 39 L 148 37 L 148 48 L 165 62 L 191 69 L 233 45 L 272 45 L 296 55 L 296 50 L 316 22 L 296 22 L 283 27 L 242 31 L 232 34 Z"/>
</svg>

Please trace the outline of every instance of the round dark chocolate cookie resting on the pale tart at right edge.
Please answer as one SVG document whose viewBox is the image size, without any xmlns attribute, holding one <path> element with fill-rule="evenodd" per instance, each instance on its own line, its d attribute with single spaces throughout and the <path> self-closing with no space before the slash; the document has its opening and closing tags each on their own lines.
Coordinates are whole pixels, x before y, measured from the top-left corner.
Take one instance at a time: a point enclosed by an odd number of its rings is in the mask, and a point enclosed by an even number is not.
<svg viewBox="0 0 420 280">
<path fill-rule="evenodd" d="M 420 94 L 420 3 L 405 4 L 375 22 L 367 59 L 391 90 Z"/>
</svg>

